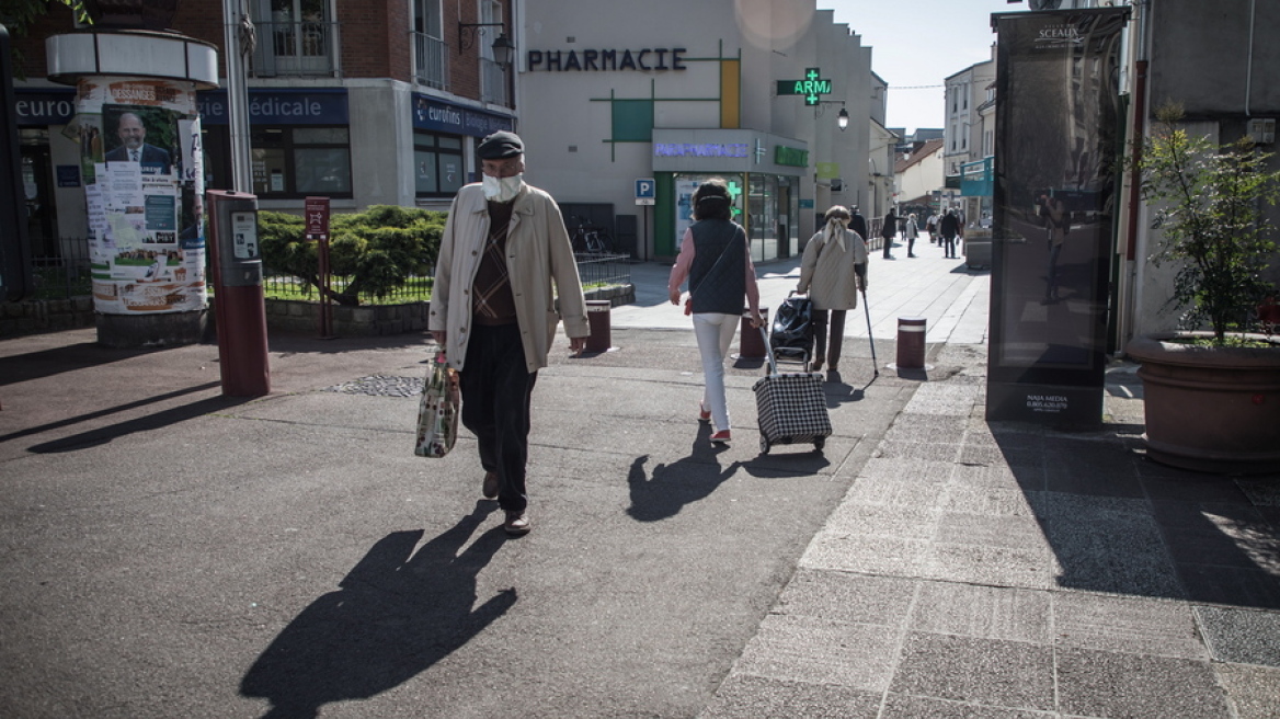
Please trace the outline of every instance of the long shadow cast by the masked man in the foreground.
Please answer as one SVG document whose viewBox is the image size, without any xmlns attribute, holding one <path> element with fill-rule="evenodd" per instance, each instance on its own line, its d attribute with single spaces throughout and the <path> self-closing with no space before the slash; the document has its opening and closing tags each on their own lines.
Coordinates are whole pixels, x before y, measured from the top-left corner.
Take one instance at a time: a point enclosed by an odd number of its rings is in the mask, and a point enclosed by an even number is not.
<svg viewBox="0 0 1280 719">
<path fill-rule="evenodd" d="M 384 692 L 467 644 L 516 603 L 509 589 L 474 606 L 476 576 L 506 540 L 502 527 L 460 554 L 494 507 L 477 502 L 417 553 L 421 530 L 379 540 L 339 591 L 312 601 L 262 651 L 241 695 L 271 701 L 264 719 L 314 718 L 324 704 Z"/>
</svg>

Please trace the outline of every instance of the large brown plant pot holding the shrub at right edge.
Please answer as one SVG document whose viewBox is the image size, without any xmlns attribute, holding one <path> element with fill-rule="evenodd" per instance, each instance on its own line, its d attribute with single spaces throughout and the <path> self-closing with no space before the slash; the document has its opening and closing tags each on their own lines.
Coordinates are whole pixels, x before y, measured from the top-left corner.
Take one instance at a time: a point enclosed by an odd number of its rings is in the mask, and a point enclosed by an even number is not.
<svg viewBox="0 0 1280 719">
<path fill-rule="evenodd" d="M 1147 455 L 1197 472 L 1280 472 L 1280 343 L 1245 349 L 1170 342 L 1196 335 L 1207 333 L 1129 343 L 1129 357 L 1142 365 Z"/>
</svg>

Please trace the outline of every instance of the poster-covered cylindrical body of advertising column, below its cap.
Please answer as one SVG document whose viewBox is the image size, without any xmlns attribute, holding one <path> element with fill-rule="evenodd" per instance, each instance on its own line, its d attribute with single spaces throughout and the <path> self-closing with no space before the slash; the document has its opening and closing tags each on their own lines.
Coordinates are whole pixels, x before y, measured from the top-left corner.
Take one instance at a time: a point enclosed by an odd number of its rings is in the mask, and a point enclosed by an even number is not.
<svg viewBox="0 0 1280 719">
<path fill-rule="evenodd" d="M 79 83 L 95 308 L 204 310 L 204 173 L 195 86 L 86 78 Z M 87 128 L 87 129 L 86 129 Z"/>
</svg>

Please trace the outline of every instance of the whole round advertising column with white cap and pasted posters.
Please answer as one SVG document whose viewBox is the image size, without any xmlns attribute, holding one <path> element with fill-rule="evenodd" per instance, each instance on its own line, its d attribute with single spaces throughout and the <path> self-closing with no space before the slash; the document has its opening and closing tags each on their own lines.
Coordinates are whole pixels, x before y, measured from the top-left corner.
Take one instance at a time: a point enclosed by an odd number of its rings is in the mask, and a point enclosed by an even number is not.
<svg viewBox="0 0 1280 719">
<path fill-rule="evenodd" d="M 69 132 L 81 146 L 99 343 L 200 342 L 205 173 L 196 90 L 216 79 L 212 46 L 131 32 L 55 36 L 47 45 L 50 78 L 77 90 Z M 102 52 L 86 54 L 88 46 Z"/>
</svg>

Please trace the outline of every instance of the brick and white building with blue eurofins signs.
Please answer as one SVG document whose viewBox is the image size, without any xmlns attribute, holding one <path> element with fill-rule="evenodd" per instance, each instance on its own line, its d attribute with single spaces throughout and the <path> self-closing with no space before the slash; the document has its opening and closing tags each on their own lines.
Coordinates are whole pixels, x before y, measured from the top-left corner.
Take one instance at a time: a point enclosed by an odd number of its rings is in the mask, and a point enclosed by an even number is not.
<svg viewBox="0 0 1280 719">
<path fill-rule="evenodd" d="M 260 209 L 301 212 L 307 196 L 329 197 L 335 211 L 447 209 L 476 175 L 475 142 L 516 124 L 512 70 L 493 51 L 512 27 L 509 0 L 250 0 L 248 9 L 248 189 Z M 215 45 L 225 79 L 221 4 L 183 3 L 173 27 Z M 52 4 L 20 41 L 27 79 L 15 83 L 15 109 L 36 256 L 88 234 L 76 90 L 44 77 L 44 40 L 74 29 Z M 200 92 L 198 105 L 205 186 L 229 189 L 225 82 Z"/>
</svg>

